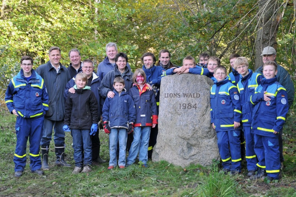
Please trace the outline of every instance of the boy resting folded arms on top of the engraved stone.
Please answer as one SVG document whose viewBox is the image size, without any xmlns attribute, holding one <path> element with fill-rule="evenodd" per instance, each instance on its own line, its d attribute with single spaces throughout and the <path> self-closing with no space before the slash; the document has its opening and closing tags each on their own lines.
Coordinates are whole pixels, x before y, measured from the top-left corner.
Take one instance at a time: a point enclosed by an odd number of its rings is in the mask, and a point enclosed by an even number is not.
<svg viewBox="0 0 296 197">
<path fill-rule="evenodd" d="M 201 66 L 195 65 L 195 59 L 191 56 L 187 56 L 183 59 L 183 66 L 177 68 L 171 68 L 165 71 L 165 76 L 172 74 L 182 74 L 182 73 L 191 73 L 191 74 L 200 74 L 208 75 L 209 70 L 202 68 Z"/>
</svg>

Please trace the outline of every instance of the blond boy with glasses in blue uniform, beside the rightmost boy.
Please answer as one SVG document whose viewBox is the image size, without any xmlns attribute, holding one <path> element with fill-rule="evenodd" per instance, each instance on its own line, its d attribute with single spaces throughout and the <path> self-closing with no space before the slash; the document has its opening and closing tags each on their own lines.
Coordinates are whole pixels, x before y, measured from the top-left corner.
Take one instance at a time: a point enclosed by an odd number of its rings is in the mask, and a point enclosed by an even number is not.
<svg viewBox="0 0 296 197">
<path fill-rule="evenodd" d="M 237 83 L 237 89 L 240 94 L 242 106 L 242 125 L 244 138 L 246 139 L 246 161 L 247 161 L 247 176 L 255 175 L 257 171 L 257 158 L 254 151 L 254 134 L 251 133 L 252 112 L 254 106 L 248 102 L 250 95 L 254 94 L 255 88 L 263 76 L 259 73 L 253 73 L 248 69 L 249 63 L 245 57 L 237 57 L 234 61 L 234 69 L 237 70 L 240 80 Z M 241 147 L 241 148 L 244 148 Z"/>
</svg>

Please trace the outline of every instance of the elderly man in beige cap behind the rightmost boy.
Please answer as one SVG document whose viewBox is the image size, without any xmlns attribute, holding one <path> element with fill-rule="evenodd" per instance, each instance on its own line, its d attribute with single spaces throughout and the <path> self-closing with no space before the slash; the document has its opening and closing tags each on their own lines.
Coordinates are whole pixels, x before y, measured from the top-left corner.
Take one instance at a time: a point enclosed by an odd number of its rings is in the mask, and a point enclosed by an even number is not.
<svg viewBox="0 0 296 197">
<path fill-rule="evenodd" d="M 263 49 L 261 56 L 263 58 L 263 63 L 265 63 L 267 61 L 275 61 L 276 50 L 271 46 L 267 46 Z M 263 74 L 262 66 L 260 66 L 255 72 Z M 284 86 L 284 88 L 286 88 L 286 90 L 287 90 L 288 104 L 289 104 L 289 108 L 290 108 L 293 103 L 293 100 L 294 100 L 294 92 L 295 92 L 294 84 L 291 80 L 291 76 L 288 73 L 288 71 L 286 69 L 284 69 L 282 66 L 280 66 L 279 64 L 277 65 L 276 76 L 277 76 L 277 81 L 282 86 Z M 279 151 L 280 151 L 281 167 L 283 168 L 284 167 L 284 165 L 283 165 L 284 155 L 283 155 L 282 133 L 283 133 L 283 131 L 280 131 L 280 133 L 279 133 Z"/>
</svg>

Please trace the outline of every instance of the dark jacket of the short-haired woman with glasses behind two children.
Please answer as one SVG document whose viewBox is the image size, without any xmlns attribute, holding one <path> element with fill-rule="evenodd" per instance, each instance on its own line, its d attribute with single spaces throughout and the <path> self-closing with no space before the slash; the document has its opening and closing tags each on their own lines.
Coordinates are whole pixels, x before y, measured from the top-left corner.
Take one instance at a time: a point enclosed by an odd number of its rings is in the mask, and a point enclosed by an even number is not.
<svg viewBox="0 0 296 197">
<path fill-rule="evenodd" d="M 122 77 L 124 79 L 124 88 L 128 90 L 133 86 L 132 78 L 133 73 L 126 67 L 126 70 L 123 74 L 118 70 L 118 66 L 115 66 L 114 70 L 108 72 L 100 84 L 99 93 L 102 98 L 106 98 L 109 91 L 113 91 L 113 81 L 116 77 Z"/>
</svg>

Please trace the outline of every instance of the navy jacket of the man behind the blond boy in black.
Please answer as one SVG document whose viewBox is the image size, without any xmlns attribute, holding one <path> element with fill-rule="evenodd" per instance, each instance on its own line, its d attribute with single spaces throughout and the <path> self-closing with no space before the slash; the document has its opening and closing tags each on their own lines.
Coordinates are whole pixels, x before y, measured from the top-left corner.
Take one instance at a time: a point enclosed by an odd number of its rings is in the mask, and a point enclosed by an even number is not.
<svg viewBox="0 0 296 197">
<path fill-rule="evenodd" d="M 102 105 L 100 104 L 100 100 L 101 100 L 101 97 L 99 94 L 100 83 L 101 83 L 100 78 L 96 75 L 95 72 L 93 72 L 93 80 L 91 81 L 91 91 L 94 92 L 96 100 L 98 101 L 98 113 L 99 113 L 98 116 L 99 116 L 99 118 L 101 117 L 101 111 L 102 111 L 102 107 L 103 107 L 103 104 Z M 66 85 L 65 92 L 64 92 L 65 100 L 67 99 L 67 96 L 69 94 L 68 90 L 71 87 L 74 87 L 74 85 L 75 85 L 75 77 L 73 77 L 73 79 L 71 79 Z"/>
</svg>

